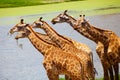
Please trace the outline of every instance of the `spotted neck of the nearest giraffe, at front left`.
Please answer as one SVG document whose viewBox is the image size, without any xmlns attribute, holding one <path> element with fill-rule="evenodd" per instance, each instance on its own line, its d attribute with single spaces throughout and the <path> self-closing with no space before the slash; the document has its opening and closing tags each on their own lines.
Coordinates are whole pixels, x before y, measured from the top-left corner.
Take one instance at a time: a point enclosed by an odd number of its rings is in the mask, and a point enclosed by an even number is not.
<svg viewBox="0 0 120 80">
<path fill-rule="evenodd" d="M 28 39 L 33 44 L 33 46 L 42 53 L 42 55 L 48 54 L 54 46 L 48 42 L 45 42 L 43 39 L 41 39 L 31 27 L 29 27 L 30 34 L 28 35 Z"/>
</svg>

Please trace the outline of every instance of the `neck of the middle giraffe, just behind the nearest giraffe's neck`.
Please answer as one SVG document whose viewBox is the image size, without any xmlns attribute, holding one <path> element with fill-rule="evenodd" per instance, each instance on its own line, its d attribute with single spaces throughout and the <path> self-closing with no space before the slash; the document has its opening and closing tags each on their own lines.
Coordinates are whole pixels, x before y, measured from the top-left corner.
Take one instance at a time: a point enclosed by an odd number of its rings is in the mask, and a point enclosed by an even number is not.
<svg viewBox="0 0 120 80">
<path fill-rule="evenodd" d="M 67 38 L 59 35 L 55 30 L 53 30 L 46 22 L 43 24 L 43 29 L 47 33 L 47 35 L 57 44 L 59 47 L 65 46 L 66 43 L 73 43 Z"/>
</svg>

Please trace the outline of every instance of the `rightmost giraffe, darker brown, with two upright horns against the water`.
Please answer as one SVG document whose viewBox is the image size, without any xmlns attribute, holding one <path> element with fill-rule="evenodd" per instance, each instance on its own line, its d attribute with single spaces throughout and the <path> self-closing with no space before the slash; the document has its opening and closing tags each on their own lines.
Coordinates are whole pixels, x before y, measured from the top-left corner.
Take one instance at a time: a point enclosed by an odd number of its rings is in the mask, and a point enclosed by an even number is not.
<svg viewBox="0 0 120 80">
<path fill-rule="evenodd" d="M 113 66 L 115 72 L 115 80 L 119 80 L 119 62 L 120 62 L 120 37 L 113 31 L 104 30 L 92 26 L 84 19 L 85 16 L 80 15 L 76 26 L 84 28 L 93 38 L 100 41 L 104 45 L 104 56 L 107 57 L 110 67 Z M 111 77 L 114 80 L 113 77 Z"/>
</svg>

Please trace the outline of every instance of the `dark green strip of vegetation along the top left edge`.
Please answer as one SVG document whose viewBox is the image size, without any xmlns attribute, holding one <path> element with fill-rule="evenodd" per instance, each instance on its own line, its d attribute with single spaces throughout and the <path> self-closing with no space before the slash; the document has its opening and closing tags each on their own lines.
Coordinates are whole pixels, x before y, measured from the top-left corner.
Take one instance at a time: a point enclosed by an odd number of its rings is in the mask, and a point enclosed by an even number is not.
<svg viewBox="0 0 120 80">
<path fill-rule="evenodd" d="M 44 5 L 51 3 L 80 1 L 80 0 L 0 0 L 0 8 Z"/>
</svg>

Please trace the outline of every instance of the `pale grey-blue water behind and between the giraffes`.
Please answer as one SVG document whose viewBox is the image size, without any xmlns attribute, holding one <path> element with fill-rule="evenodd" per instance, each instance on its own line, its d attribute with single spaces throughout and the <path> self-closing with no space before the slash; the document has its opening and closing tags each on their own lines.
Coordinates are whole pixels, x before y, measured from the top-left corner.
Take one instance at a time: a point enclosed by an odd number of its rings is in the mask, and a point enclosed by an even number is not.
<svg viewBox="0 0 120 80">
<path fill-rule="evenodd" d="M 42 65 L 43 56 L 40 52 L 32 46 L 28 39 L 20 39 L 17 44 L 14 39 L 15 34 L 12 36 L 7 34 L 9 29 L 21 18 L 24 18 L 26 23 L 32 23 L 40 16 L 46 18 L 49 15 L 0 18 L 0 80 L 48 80 Z M 87 18 L 94 26 L 112 30 L 120 36 L 120 14 L 90 16 Z M 87 44 L 94 53 L 94 65 L 98 71 L 96 77 L 103 76 L 102 66 L 95 52 L 96 44 L 94 42 L 74 31 L 66 23 L 56 25 L 52 25 L 50 21 L 48 23 L 59 34 Z"/>
</svg>

